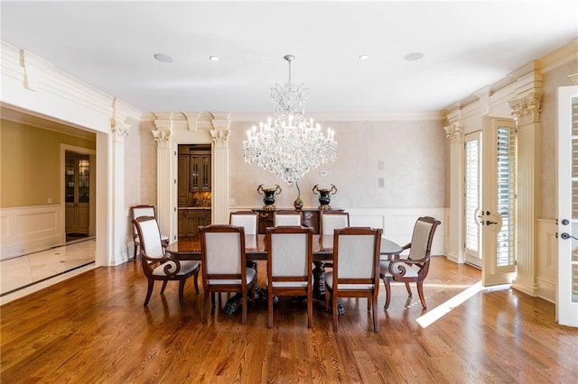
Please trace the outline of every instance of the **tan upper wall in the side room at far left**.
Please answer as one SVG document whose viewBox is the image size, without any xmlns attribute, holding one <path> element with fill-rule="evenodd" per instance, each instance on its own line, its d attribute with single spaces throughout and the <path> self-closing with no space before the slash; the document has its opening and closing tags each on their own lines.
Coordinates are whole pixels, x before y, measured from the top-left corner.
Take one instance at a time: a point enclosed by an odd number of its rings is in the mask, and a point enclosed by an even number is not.
<svg viewBox="0 0 578 384">
<path fill-rule="evenodd" d="M 95 142 L 0 121 L 0 207 L 61 204 L 61 144 L 94 150 Z"/>
</svg>

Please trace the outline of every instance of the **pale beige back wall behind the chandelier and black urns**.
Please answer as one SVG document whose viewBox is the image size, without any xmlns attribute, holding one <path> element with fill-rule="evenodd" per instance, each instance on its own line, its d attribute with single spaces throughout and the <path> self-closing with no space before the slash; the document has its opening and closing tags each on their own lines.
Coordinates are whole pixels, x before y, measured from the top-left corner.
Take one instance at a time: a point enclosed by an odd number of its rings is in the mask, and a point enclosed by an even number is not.
<svg viewBox="0 0 578 384">
<path fill-rule="evenodd" d="M 263 206 L 256 187 L 275 187 L 283 192 L 275 205 L 293 206 L 297 190 L 255 164 L 243 160 L 241 142 L 252 123 L 231 123 L 229 139 L 229 206 Z M 331 206 L 353 207 L 443 207 L 445 206 L 445 161 L 447 143 L 442 121 L 333 122 L 339 143 L 337 160 L 312 170 L 300 180 L 306 207 L 318 206 L 312 187 L 338 188 Z M 379 163 L 383 169 L 379 169 Z M 329 176 L 320 176 L 320 170 Z M 378 187 L 379 178 L 384 187 Z"/>
</svg>

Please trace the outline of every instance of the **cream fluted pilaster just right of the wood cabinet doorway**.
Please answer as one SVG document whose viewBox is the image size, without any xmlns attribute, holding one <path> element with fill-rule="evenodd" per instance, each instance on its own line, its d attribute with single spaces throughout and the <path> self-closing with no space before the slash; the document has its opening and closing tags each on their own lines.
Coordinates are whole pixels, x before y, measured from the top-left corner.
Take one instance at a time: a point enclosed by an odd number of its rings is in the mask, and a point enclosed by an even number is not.
<svg viewBox="0 0 578 384">
<path fill-rule="evenodd" d="M 214 121 L 213 121 L 214 123 Z M 228 125 L 228 123 L 227 123 Z M 212 155 L 212 218 L 213 224 L 228 224 L 228 135 L 230 131 L 211 130 Z M 217 177 L 225 175 L 226 177 Z"/>
</svg>

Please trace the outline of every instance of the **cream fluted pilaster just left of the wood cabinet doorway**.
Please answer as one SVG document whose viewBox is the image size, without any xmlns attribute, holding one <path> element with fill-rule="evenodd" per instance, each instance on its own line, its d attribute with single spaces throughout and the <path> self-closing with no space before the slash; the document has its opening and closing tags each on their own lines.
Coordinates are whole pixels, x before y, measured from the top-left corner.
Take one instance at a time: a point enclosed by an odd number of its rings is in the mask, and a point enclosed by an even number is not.
<svg viewBox="0 0 578 384">
<path fill-rule="evenodd" d="M 157 124 L 158 126 L 158 124 Z M 156 218 L 159 223 L 161 233 L 165 233 L 172 242 L 176 239 L 177 228 L 172 220 L 172 184 L 176 179 L 173 176 L 175 167 L 172 161 L 171 131 L 153 131 L 156 142 Z"/>
</svg>

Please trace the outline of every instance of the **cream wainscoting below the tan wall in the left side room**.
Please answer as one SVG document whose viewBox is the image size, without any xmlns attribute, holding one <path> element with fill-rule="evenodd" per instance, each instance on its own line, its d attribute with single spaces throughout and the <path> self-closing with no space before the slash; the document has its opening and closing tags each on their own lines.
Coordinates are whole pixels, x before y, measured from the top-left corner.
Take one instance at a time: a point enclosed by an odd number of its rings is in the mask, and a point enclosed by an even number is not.
<svg viewBox="0 0 578 384">
<path fill-rule="evenodd" d="M 0 260 L 66 242 L 60 205 L 0 209 Z"/>
</svg>

